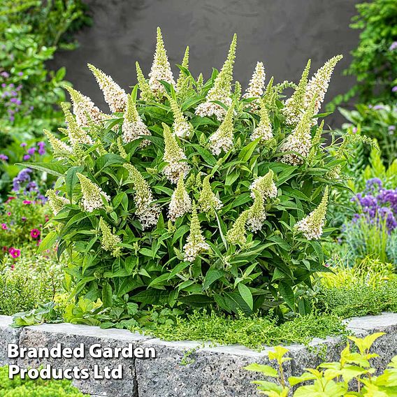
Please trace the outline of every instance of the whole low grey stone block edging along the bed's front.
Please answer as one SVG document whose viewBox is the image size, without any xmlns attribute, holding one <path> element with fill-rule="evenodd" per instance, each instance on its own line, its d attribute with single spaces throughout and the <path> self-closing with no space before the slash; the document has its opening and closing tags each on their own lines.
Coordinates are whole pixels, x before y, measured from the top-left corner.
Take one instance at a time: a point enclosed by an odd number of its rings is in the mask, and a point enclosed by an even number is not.
<svg viewBox="0 0 397 397">
<path fill-rule="evenodd" d="M 257 396 L 251 380 L 258 378 L 255 373 L 243 369 L 249 363 L 268 363 L 266 347 L 255 352 L 243 346 L 203 345 L 201 342 L 166 342 L 157 338 L 148 338 L 139 333 L 119 329 L 99 329 L 95 326 L 73 324 L 43 324 L 28 326 L 24 329 L 10 328 L 11 317 L 0 316 L 0 366 L 7 363 L 22 368 L 50 363 L 56 368 L 79 366 L 89 368 L 115 367 L 121 363 L 124 368 L 122 380 L 74 380 L 73 384 L 92 396 L 112 397 L 198 397 L 198 396 Z M 384 331 L 374 348 L 380 354 L 375 365 L 384 368 L 391 357 L 397 354 L 397 314 L 384 313 L 379 316 L 354 317 L 348 322 L 348 329 L 359 336 Z M 133 347 L 154 347 L 155 359 L 93 359 L 88 354 L 83 359 L 7 359 L 8 343 L 17 343 L 20 347 L 54 347 L 57 342 L 63 346 L 77 347 L 84 343 L 86 349 L 94 343 L 102 347 L 124 347 L 133 343 Z M 315 339 L 309 347 L 304 345 L 288 346 L 292 360 L 286 366 L 287 376 L 310 366 L 315 367 L 321 361 L 338 359 L 344 347 L 342 338 Z M 187 365 L 181 362 L 188 361 Z"/>
</svg>

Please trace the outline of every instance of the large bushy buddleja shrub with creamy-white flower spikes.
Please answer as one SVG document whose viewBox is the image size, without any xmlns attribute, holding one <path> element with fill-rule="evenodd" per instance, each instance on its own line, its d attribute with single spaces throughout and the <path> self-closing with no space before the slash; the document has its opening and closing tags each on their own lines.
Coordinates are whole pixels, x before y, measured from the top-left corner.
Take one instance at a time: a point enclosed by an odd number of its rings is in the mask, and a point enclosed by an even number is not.
<svg viewBox="0 0 397 397">
<path fill-rule="evenodd" d="M 175 82 L 157 31 L 146 80 L 127 94 L 92 65 L 112 115 L 68 88 L 67 129 L 46 132 L 59 176 L 43 249 L 68 252 L 73 294 L 109 307 L 128 294 L 140 308 L 208 306 L 251 313 L 287 303 L 324 269 L 319 239 L 329 184 L 343 159 L 324 150 L 317 115 L 340 57 L 308 82 L 265 88 L 257 64 L 243 96 L 233 84 L 236 36 L 219 73 L 194 79 L 189 49 Z M 282 91 L 294 87 L 284 103 Z M 316 116 L 317 115 L 317 116 Z M 124 299 L 124 298 L 123 298 Z"/>
</svg>

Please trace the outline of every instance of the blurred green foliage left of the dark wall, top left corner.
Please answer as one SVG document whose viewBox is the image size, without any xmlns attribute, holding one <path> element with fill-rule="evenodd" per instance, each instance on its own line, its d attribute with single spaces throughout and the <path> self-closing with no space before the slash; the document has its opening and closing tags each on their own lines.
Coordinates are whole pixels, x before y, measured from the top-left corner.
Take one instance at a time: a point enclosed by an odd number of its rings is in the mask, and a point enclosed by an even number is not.
<svg viewBox="0 0 397 397">
<path fill-rule="evenodd" d="M 62 122 L 57 103 L 64 101 L 66 70 L 45 64 L 59 46 L 74 48 L 68 32 L 85 16 L 79 0 L 2 1 L 0 5 L 0 193 L 20 168 L 12 164 L 19 145 L 43 136 Z M 5 161 L 8 160 L 8 161 Z"/>
</svg>

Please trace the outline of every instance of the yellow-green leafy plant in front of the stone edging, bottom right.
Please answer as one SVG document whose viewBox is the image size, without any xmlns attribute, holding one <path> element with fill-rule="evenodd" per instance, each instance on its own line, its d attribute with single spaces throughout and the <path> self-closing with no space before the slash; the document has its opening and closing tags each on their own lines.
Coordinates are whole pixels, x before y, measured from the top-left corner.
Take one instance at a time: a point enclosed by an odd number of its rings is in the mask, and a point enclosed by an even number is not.
<svg viewBox="0 0 397 397">
<path fill-rule="evenodd" d="M 292 387 L 303 382 L 311 382 L 299 386 L 294 391 L 294 397 L 310 396 L 395 396 L 397 376 L 397 356 L 391 360 L 388 368 L 382 374 L 375 376 L 376 368 L 370 365 L 370 360 L 379 357 L 379 354 L 370 353 L 370 348 L 377 338 L 384 332 L 373 333 L 365 338 L 348 336 L 359 352 L 352 352 L 350 344 L 340 354 L 340 361 L 322 363 L 316 369 L 308 368 L 300 376 L 285 378 L 283 364 L 289 361 L 285 354 L 288 349 L 276 346 L 274 352 L 268 352 L 270 360 L 277 363 L 277 368 L 263 364 L 250 364 L 247 370 L 262 373 L 265 377 L 274 378 L 276 382 L 256 380 L 258 391 L 270 397 L 287 397 Z"/>
</svg>

